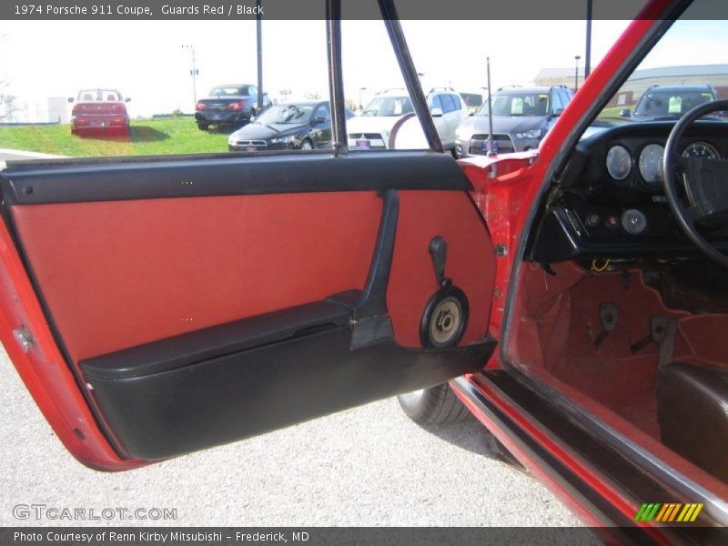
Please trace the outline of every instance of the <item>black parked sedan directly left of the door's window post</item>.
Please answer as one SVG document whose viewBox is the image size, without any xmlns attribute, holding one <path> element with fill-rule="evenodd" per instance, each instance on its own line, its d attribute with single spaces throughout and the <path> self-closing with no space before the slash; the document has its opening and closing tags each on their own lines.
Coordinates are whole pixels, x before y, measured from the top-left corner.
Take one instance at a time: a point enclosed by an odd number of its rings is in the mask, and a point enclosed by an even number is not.
<svg viewBox="0 0 728 546">
<path fill-rule="evenodd" d="M 354 113 L 347 111 L 347 116 Z M 270 151 L 332 147 L 329 101 L 270 106 L 255 120 L 227 137 L 230 151 Z"/>
</svg>

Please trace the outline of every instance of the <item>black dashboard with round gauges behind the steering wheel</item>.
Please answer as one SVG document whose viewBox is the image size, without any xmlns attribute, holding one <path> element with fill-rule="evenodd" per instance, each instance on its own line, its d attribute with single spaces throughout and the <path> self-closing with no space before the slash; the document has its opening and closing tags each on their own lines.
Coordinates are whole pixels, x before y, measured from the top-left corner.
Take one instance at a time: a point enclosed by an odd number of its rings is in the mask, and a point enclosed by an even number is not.
<svg viewBox="0 0 728 546">
<path fill-rule="evenodd" d="M 662 191 L 662 157 L 674 124 L 631 123 L 582 139 L 555 178 L 557 190 L 541 215 L 531 258 L 550 263 L 701 255 Z M 678 149 L 683 157 L 728 158 L 728 123 L 695 122 Z M 728 249 L 728 235 L 711 240 Z"/>
</svg>

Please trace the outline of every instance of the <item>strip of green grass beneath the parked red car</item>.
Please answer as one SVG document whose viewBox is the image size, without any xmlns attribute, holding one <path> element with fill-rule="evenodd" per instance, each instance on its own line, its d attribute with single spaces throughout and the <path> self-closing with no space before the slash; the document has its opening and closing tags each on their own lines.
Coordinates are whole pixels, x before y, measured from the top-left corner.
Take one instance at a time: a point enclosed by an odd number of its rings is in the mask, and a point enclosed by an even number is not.
<svg viewBox="0 0 728 546">
<path fill-rule="evenodd" d="M 227 151 L 226 132 L 200 131 L 192 117 L 132 120 L 128 135 L 71 135 L 71 126 L 0 127 L 0 148 L 71 157 L 199 154 Z"/>
</svg>

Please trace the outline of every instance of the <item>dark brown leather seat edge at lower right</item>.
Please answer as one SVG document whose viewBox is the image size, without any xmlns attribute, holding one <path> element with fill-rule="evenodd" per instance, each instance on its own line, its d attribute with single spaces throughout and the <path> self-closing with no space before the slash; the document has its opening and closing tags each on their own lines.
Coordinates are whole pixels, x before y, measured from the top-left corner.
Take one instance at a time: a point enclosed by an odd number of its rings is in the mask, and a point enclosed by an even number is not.
<svg viewBox="0 0 728 546">
<path fill-rule="evenodd" d="M 728 482 L 728 369 L 660 367 L 657 419 L 662 443 Z"/>
</svg>

